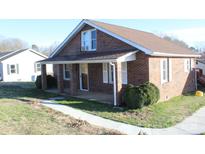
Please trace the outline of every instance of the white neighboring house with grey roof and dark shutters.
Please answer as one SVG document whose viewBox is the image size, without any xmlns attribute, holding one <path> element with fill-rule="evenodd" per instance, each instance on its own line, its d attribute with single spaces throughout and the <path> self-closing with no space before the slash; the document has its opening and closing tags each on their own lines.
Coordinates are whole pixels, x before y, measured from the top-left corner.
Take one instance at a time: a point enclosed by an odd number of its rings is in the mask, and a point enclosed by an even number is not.
<svg viewBox="0 0 205 154">
<path fill-rule="evenodd" d="M 41 74 L 41 65 L 36 63 L 47 56 L 33 49 L 20 49 L 12 52 L 0 52 L 0 81 L 35 81 Z M 53 66 L 47 66 L 47 73 L 53 73 Z"/>
</svg>

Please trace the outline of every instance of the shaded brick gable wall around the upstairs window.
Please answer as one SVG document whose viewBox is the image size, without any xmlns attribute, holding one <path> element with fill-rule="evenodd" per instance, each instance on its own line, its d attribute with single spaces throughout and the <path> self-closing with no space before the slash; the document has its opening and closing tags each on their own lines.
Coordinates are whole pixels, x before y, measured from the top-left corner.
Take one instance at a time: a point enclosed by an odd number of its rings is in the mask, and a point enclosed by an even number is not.
<svg viewBox="0 0 205 154">
<path fill-rule="evenodd" d="M 86 25 L 81 31 L 93 29 L 91 26 Z M 84 54 L 81 51 L 81 31 L 63 48 L 59 56 Z M 96 52 L 106 51 L 127 51 L 135 50 L 134 47 L 115 39 L 114 37 L 97 30 L 97 50 Z"/>
</svg>

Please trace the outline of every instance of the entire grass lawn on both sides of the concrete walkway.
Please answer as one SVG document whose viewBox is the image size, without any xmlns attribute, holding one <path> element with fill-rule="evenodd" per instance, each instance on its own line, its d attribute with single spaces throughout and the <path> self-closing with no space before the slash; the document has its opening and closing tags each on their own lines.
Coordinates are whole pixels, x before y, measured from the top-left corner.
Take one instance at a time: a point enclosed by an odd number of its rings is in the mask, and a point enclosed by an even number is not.
<svg viewBox="0 0 205 154">
<path fill-rule="evenodd" d="M 4 133 L 2 129 L 7 130 L 16 128 L 15 133 L 22 134 L 107 134 L 113 133 L 103 128 L 95 128 L 94 126 L 81 127 L 103 130 L 98 131 L 78 131 L 72 129 L 70 124 L 65 124 L 62 119 L 64 115 L 56 117 L 55 112 L 50 112 L 49 109 L 32 105 L 36 99 L 46 99 L 55 97 L 56 94 L 47 93 L 42 90 L 37 90 L 31 83 L 6 83 L 0 84 L 0 134 Z M 26 100 L 31 101 L 30 105 Z M 16 103 L 18 102 L 18 103 Z M 27 104 L 23 103 L 26 102 Z M 85 112 L 98 115 L 104 118 L 120 121 L 132 125 L 165 128 L 170 127 L 182 121 L 185 117 L 190 116 L 193 112 L 205 106 L 205 96 L 196 97 L 194 94 L 175 97 L 167 102 L 160 102 L 142 109 L 129 110 L 126 108 L 117 109 L 110 105 L 102 104 L 95 101 L 88 101 L 76 98 L 66 98 L 58 103 L 66 104 L 73 108 L 83 110 Z M 9 105 L 8 105 L 9 104 Z M 35 103 L 34 103 L 35 104 Z M 57 114 L 58 115 L 58 114 Z M 66 121 L 74 121 L 76 119 L 67 117 Z M 23 121 L 22 121 L 23 120 Z M 81 123 L 81 122 L 80 122 Z M 72 124 L 71 124 L 72 125 Z M 76 125 L 76 124 L 74 124 Z M 89 125 L 89 124 L 88 124 Z M 14 127 L 13 127 L 14 126 Z M 80 128 L 79 128 L 80 129 Z M 22 130 L 22 132 L 21 132 Z M 24 130 L 24 131 L 23 131 Z M 77 131 L 75 131 L 77 130 Z M 74 132 L 73 132 L 74 131 Z"/>
</svg>

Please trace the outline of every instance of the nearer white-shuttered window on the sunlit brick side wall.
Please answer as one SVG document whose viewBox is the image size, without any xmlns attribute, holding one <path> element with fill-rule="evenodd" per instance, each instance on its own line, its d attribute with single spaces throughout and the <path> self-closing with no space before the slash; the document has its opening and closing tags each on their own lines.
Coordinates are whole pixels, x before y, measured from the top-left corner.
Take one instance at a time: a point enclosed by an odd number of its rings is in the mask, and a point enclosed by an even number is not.
<svg viewBox="0 0 205 154">
<path fill-rule="evenodd" d="M 170 82 L 172 80 L 172 63 L 171 59 L 161 60 L 161 83 Z"/>
</svg>

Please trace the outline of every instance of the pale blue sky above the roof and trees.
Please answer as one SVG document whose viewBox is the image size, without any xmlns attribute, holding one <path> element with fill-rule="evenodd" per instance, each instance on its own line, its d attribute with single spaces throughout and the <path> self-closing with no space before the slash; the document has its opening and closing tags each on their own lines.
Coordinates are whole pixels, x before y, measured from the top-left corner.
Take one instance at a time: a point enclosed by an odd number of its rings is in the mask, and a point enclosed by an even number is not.
<svg viewBox="0 0 205 154">
<path fill-rule="evenodd" d="M 105 20 L 155 34 L 168 34 L 188 45 L 205 46 L 205 20 Z M 48 46 L 62 42 L 81 20 L 0 20 L 0 36 L 19 38 L 31 44 Z"/>
</svg>

